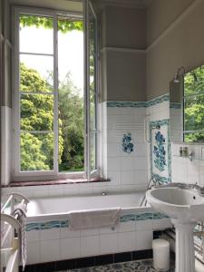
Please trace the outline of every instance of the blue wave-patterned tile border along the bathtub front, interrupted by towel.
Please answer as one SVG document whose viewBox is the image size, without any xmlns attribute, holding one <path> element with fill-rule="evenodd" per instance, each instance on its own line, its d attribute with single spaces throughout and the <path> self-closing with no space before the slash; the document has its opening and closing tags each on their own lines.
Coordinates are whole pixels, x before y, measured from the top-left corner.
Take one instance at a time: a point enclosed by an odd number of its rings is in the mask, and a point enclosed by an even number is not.
<svg viewBox="0 0 204 272">
<path fill-rule="evenodd" d="M 144 212 L 144 213 L 131 213 L 124 214 L 120 218 L 121 223 L 130 221 L 142 221 L 148 219 L 166 219 L 168 216 L 161 214 L 160 212 Z M 52 220 L 45 222 L 32 222 L 25 225 L 25 231 L 43 230 L 52 228 L 69 228 L 68 220 Z"/>
</svg>

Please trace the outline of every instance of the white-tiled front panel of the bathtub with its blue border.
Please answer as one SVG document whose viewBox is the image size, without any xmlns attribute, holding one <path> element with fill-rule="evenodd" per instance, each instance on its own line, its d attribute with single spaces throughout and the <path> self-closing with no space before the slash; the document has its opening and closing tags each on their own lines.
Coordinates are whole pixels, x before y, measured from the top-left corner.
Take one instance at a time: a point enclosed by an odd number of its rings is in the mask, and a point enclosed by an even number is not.
<svg viewBox="0 0 204 272">
<path fill-rule="evenodd" d="M 152 231 L 171 226 L 170 219 L 150 211 L 120 221 L 114 229 L 81 231 L 70 230 L 67 219 L 27 224 L 27 264 L 151 249 Z"/>
</svg>

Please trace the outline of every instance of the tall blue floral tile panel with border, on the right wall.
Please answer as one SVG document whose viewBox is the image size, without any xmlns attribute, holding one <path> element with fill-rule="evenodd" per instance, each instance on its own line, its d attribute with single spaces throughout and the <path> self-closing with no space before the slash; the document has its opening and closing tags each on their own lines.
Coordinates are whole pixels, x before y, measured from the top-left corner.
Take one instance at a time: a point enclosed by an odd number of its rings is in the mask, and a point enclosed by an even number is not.
<svg viewBox="0 0 204 272">
<path fill-rule="evenodd" d="M 151 121 L 151 176 L 170 182 L 169 120 Z"/>
</svg>

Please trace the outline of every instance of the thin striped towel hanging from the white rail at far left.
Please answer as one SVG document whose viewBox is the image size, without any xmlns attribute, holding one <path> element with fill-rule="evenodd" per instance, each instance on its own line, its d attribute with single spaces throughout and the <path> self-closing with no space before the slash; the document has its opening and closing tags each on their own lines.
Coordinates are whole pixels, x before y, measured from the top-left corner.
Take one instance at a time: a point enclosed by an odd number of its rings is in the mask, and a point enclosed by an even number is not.
<svg viewBox="0 0 204 272">
<path fill-rule="evenodd" d="M 26 218 L 26 205 L 25 204 L 18 204 L 16 205 L 13 215 L 18 215 L 18 221 L 21 224 L 20 229 L 20 244 L 21 244 L 21 260 L 22 260 L 22 267 L 24 271 L 24 267 L 26 264 L 27 254 L 26 254 L 26 240 L 25 240 L 25 218 Z"/>
</svg>

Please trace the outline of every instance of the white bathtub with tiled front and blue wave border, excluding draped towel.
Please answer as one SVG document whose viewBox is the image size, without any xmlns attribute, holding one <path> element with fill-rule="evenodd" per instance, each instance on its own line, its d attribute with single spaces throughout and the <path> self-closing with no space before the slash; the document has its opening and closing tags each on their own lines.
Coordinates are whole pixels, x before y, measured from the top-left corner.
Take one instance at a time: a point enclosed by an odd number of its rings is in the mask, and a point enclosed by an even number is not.
<svg viewBox="0 0 204 272">
<path fill-rule="evenodd" d="M 30 199 L 26 219 L 28 264 L 151 249 L 153 230 L 170 228 L 170 219 L 139 207 L 144 192 Z M 68 213 L 121 207 L 116 228 L 71 230 Z"/>
</svg>

